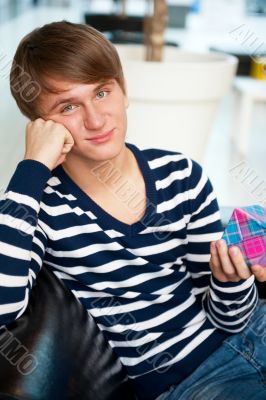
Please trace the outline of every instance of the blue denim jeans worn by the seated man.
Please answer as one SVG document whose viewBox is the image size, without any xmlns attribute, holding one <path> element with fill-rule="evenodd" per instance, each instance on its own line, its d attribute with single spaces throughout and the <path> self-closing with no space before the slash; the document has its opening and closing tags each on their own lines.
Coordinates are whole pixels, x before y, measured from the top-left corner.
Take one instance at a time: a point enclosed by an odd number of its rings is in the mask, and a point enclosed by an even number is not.
<svg viewBox="0 0 266 400">
<path fill-rule="evenodd" d="M 266 400 L 266 300 L 242 332 L 156 400 Z"/>
</svg>

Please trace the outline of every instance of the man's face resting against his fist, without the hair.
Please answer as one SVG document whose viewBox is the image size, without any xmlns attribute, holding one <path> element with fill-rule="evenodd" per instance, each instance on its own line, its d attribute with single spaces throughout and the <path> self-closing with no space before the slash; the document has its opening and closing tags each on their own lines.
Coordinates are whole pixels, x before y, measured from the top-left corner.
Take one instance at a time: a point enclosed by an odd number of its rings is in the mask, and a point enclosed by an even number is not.
<svg viewBox="0 0 266 400">
<path fill-rule="evenodd" d="M 69 130 L 74 139 L 69 156 L 94 161 L 117 156 L 124 146 L 127 129 L 127 98 L 117 81 L 51 83 L 60 93 L 41 97 L 41 117 L 61 123 Z"/>
</svg>

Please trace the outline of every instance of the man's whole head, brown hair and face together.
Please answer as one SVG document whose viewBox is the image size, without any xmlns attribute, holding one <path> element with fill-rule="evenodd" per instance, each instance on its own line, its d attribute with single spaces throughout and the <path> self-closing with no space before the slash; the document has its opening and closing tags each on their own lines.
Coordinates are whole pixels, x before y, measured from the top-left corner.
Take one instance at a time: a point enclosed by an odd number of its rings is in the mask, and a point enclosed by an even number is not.
<svg viewBox="0 0 266 400">
<path fill-rule="evenodd" d="M 92 27 L 63 21 L 28 34 L 15 54 L 10 86 L 24 115 L 60 123 L 71 133 L 68 162 L 109 160 L 124 148 L 127 96 L 120 59 Z"/>
</svg>

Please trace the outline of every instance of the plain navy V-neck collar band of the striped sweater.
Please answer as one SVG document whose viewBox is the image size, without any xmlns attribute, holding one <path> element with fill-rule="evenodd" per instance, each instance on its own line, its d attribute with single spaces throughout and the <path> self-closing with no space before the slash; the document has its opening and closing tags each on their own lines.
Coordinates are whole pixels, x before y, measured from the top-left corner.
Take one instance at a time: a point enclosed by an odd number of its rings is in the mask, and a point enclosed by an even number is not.
<svg viewBox="0 0 266 400">
<path fill-rule="evenodd" d="M 117 218 L 113 217 L 107 211 L 105 211 L 102 207 L 100 207 L 87 193 L 85 193 L 65 172 L 63 167 L 59 165 L 54 173 L 64 185 L 67 186 L 67 189 L 71 194 L 73 194 L 78 201 L 82 204 L 83 209 L 90 210 L 98 219 L 100 225 L 104 229 L 114 229 L 124 235 L 133 236 L 138 232 L 144 230 L 147 226 L 147 223 L 154 221 L 156 219 L 156 188 L 155 188 L 155 179 L 152 170 L 148 164 L 148 161 L 144 157 L 141 150 L 138 149 L 137 146 L 131 143 L 125 143 L 125 145 L 132 151 L 133 155 L 136 158 L 140 171 L 142 173 L 145 188 L 146 188 L 146 209 L 143 217 L 134 222 L 133 224 L 124 223 Z"/>
</svg>

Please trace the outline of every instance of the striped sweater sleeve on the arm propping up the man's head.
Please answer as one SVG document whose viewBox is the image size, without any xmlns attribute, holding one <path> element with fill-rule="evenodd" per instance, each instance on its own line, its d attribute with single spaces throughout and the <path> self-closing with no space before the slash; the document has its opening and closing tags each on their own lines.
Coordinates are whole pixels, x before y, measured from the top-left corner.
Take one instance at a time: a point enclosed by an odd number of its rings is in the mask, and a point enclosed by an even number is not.
<svg viewBox="0 0 266 400">
<path fill-rule="evenodd" d="M 21 161 L 0 198 L 0 325 L 24 312 L 41 268 L 46 235 L 38 213 L 50 175 L 37 161 Z"/>
</svg>

